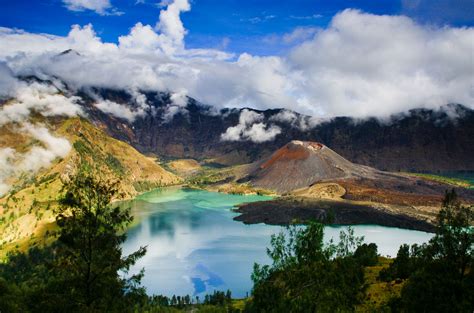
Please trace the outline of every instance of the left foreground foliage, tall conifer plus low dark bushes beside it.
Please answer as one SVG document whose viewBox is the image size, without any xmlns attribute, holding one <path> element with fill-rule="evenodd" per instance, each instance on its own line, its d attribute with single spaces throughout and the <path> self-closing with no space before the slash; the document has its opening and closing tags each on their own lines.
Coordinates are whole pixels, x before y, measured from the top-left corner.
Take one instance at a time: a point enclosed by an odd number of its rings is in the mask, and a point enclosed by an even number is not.
<svg viewBox="0 0 474 313">
<path fill-rule="evenodd" d="M 124 312 L 144 294 L 127 272 L 145 248 L 123 256 L 129 210 L 110 206 L 116 184 L 78 176 L 65 185 L 50 247 L 9 256 L 0 266 L 0 311 Z"/>
</svg>

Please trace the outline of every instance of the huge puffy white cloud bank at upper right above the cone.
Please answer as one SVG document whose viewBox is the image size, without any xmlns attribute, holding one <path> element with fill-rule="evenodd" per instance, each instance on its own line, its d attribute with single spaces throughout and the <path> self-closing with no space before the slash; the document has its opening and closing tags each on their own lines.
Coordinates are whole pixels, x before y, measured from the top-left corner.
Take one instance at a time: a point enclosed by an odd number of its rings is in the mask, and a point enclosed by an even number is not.
<svg viewBox="0 0 474 313">
<path fill-rule="evenodd" d="M 304 77 L 300 104 L 313 114 L 387 116 L 451 102 L 472 108 L 472 38 L 474 28 L 346 10 L 289 61 Z"/>
</svg>

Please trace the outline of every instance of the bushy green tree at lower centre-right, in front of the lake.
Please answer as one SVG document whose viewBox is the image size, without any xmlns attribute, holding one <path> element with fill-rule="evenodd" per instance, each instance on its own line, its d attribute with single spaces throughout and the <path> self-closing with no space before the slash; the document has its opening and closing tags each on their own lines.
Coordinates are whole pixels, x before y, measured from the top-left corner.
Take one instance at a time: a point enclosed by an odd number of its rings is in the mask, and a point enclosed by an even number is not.
<svg viewBox="0 0 474 313">
<path fill-rule="evenodd" d="M 247 312 L 351 311 L 359 300 L 363 266 L 354 257 L 362 239 L 350 229 L 338 245 L 323 243 L 324 226 L 291 226 L 271 238 L 272 265 L 254 265 Z"/>
</svg>

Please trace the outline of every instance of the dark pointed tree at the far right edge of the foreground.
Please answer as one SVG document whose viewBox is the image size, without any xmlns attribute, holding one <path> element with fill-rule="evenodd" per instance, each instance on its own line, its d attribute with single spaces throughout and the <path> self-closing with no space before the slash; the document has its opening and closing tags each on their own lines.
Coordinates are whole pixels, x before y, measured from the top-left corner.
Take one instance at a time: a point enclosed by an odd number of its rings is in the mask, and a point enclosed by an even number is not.
<svg viewBox="0 0 474 313">
<path fill-rule="evenodd" d="M 420 262 L 402 289 L 406 312 L 472 312 L 474 221 L 472 206 L 446 192 L 435 236 L 419 251 Z"/>
</svg>

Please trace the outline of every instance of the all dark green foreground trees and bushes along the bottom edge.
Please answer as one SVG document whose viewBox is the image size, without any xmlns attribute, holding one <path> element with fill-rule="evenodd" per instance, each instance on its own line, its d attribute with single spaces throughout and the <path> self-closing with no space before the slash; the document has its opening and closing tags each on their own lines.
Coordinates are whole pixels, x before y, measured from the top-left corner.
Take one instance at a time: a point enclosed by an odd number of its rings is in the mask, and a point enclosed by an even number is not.
<svg viewBox="0 0 474 313">
<path fill-rule="evenodd" d="M 58 228 L 50 234 L 54 242 L 10 253 L 0 264 L 0 312 L 472 312 L 474 307 L 474 212 L 454 191 L 446 193 L 432 240 L 402 245 L 394 260 L 379 257 L 377 246 L 363 243 L 351 228 L 337 244 L 324 244 L 322 224 L 288 227 L 271 238 L 272 263 L 255 264 L 251 298 L 238 301 L 230 291 L 203 299 L 148 296 L 140 284 L 144 272 L 128 274 L 146 248 L 122 254 L 132 217 L 110 204 L 117 196 L 117 183 L 88 175 L 65 183 L 55 212 Z"/>
</svg>

